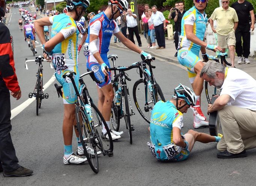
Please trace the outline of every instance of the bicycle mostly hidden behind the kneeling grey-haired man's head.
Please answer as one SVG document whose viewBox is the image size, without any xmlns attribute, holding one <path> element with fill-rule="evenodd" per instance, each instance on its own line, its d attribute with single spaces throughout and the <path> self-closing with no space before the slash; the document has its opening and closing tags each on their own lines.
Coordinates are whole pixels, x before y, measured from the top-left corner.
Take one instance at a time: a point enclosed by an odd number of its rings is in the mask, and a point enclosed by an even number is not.
<svg viewBox="0 0 256 186">
<path fill-rule="evenodd" d="M 227 57 L 227 53 L 220 52 L 217 56 L 209 56 L 208 60 L 216 61 L 218 63 L 221 61 L 222 65 L 224 65 L 225 63 L 226 65 L 231 66 L 231 63 L 227 62 L 226 57 Z M 203 62 L 206 62 L 206 61 L 203 61 Z M 205 95 L 206 95 L 207 102 L 209 104 L 211 104 L 211 99 L 209 96 L 209 94 L 211 95 L 211 93 L 212 93 L 212 96 L 219 95 L 220 89 L 216 89 L 216 87 L 210 86 L 208 82 L 205 81 Z"/>
</svg>

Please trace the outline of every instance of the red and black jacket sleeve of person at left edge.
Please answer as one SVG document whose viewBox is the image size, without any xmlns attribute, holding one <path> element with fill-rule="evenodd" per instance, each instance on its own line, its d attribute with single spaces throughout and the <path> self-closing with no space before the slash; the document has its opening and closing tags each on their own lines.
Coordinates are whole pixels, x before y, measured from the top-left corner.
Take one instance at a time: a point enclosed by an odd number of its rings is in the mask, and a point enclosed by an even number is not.
<svg viewBox="0 0 256 186">
<path fill-rule="evenodd" d="M 0 23 L 0 80 L 5 81 L 11 92 L 20 90 L 15 74 L 10 31 L 3 23 Z"/>
</svg>

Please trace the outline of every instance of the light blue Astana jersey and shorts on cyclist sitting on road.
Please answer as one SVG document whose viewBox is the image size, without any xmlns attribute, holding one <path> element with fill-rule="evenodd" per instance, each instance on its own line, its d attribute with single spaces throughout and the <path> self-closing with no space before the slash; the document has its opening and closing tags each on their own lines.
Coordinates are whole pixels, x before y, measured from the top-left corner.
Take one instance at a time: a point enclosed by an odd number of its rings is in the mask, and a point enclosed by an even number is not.
<svg viewBox="0 0 256 186">
<path fill-rule="evenodd" d="M 182 127 L 183 114 L 172 102 L 158 101 L 151 112 L 149 148 L 162 161 L 182 161 L 189 151 L 173 143 L 173 127 Z"/>
</svg>

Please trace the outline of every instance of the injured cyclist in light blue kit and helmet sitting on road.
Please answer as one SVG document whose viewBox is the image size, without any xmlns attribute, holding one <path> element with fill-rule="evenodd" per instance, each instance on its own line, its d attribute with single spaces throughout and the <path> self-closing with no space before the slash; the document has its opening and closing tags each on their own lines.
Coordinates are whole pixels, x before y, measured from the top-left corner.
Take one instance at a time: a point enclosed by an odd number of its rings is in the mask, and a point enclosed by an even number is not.
<svg viewBox="0 0 256 186">
<path fill-rule="evenodd" d="M 179 84 L 174 89 L 173 98 L 155 104 L 150 120 L 149 149 L 161 161 L 182 161 L 188 158 L 196 141 L 201 143 L 218 142 L 220 136 L 210 136 L 189 130 L 182 135 L 183 114 L 196 103 L 196 94 L 190 88 Z"/>
</svg>

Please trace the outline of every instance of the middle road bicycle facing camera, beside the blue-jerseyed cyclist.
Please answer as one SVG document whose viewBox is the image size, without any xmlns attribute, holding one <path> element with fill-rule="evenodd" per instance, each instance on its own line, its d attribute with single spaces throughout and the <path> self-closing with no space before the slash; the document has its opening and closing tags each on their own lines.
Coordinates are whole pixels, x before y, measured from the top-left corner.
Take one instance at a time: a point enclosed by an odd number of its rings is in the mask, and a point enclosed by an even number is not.
<svg viewBox="0 0 256 186">
<path fill-rule="evenodd" d="M 108 56 L 111 58 L 111 56 Z M 112 56 L 111 60 L 113 59 L 113 62 L 115 61 L 116 56 Z M 128 74 L 125 73 L 125 71 L 128 71 L 132 68 L 138 68 L 138 65 L 132 65 L 132 66 L 119 66 L 113 68 L 107 68 L 105 66 L 105 69 L 107 71 L 114 71 L 114 80 L 112 81 L 112 86 L 114 89 L 114 92 L 117 92 L 120 87 L 120 105 L 117 105 L 117 97 L 114 97 L 112 102 L 112 108 L 111 108 L 111 123 L 113 125 L 113 128 L 115 131 L 119 130 L 120 127 L 120 118 L 124 118 L 126 129 L 129 131 L 129 138 L 130 143 L 133 143 L 133 137 L 132 137 L 132 131 L 134 131 L 134 125 L 131 124 L 130 117 L 134 115 L 133 107 L 131 105 L 131 99 L 129 90 L 126 84 L 126 80 L 131 81 L 130 78 L 128 78 Z M 119 71 L 119 74 L 116 74 L 116 71 Z"/>
</svg>

